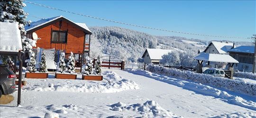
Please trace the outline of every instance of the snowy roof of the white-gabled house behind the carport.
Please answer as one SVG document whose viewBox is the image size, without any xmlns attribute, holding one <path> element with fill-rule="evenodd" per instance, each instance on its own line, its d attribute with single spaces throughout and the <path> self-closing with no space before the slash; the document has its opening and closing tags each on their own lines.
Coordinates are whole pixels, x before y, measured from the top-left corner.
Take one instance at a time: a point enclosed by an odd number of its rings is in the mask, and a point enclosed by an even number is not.
<svg viewBox="0 0 256 118">
<path fill-rule="evenodd" d="M 217 49 L 219 54 L 225 54 L 228 52 L 229 49 L 231 49 L 234 45 L 234 43 L 229 43 L 229 42 L 217 42 L 217 41 L 212 41 L 210 44 L 214 45 L 214 47 Z M 209 44 L 209 45 L 210 45 Z M 208 47 L 207 47 L 208 48 Z M 205 50 L 207 50 L 207 48 Z"/>
</svg>

